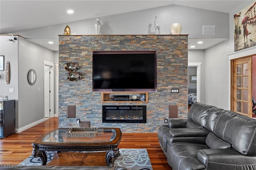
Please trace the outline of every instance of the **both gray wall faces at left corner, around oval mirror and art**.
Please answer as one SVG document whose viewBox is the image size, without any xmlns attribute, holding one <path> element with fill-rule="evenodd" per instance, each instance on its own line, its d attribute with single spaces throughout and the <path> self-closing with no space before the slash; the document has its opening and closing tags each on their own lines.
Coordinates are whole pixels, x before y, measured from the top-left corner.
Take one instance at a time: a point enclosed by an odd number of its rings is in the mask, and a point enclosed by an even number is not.
<svg viewBox="0 0 256 170">
<path fill-rule="evenodd" d="M 10 61 L 10 84 L 6 84 L 6 68 L 0 71 L 0 96 L 16 100 L 16 130 L 44 119 L 44 73 L 43 60 L 54 62 L 54 52 L 17 36 L 10 44 L 11 35 L 0 36 L 0 55 L 4 55 L 4 66 Z M 28 71 L 36 70 L 34 86 L 28 83 Z M 14 93 L 9 89 L 14 88 Z M 38 91 L 38 88 L 40 89 Z"/>
</svg>

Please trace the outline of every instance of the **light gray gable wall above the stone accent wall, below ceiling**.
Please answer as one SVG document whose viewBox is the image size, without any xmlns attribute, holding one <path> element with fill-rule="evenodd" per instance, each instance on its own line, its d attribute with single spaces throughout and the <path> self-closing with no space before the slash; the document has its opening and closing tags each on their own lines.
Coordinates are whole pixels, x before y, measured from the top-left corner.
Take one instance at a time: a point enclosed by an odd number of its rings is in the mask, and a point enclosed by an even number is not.
<svg viewBox="0 0 256 170">
<path fill-rule="evenodd" d="M 155 16 L 158 16 L 156 23 L 160 25 L 161 34 L 170 34 L 170 25 L 180 22 L 181 34 L 189 34 L 189 38 L 229 37 L 228 13 L 177 5 L 100 17 L 102 34 L 154 34 Z M 64 34 L 64 28 L 68 24 L 71 34 L 93 35 L 95 23 L 96 18 L 18 31 L 15 34 L 33 39 L 58 39 L 58 35 Z M 203 25 L 216 25 L 216 35 L 202 35 Z"/>
</svg>

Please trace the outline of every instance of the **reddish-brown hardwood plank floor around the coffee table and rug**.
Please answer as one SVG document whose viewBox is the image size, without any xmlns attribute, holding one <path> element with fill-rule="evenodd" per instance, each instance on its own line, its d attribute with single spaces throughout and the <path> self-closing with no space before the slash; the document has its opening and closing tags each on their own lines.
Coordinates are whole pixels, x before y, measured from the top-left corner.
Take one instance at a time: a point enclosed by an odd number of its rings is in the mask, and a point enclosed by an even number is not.
<svg viewBox="0 0 256 170">
<path fill-rule="evenodd" d="M 22 162 L 32 154 L 31 143 L 55 128 L 58 128 L 58 117 L 47 119 L 21 133 L 0 139 L 1 164 Z M 154 170 L 172 170 L 160 148 L 157 133 L 123 133 L 118 148 L 145 148 L 148 150 Z M 98 161 L 95 161 L 95 165 L 98 165 Z"/>
</svg>

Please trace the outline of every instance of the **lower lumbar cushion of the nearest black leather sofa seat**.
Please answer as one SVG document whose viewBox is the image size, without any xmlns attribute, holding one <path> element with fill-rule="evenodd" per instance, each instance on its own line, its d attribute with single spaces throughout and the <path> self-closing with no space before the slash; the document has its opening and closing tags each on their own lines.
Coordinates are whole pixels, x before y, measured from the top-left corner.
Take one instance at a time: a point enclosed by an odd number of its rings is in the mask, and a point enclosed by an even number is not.
<svg viewBox="0 0 256 170">
<path fill-rule="evenodd" d="M 207 135 L 205 143 L 210 149 L 226 149 L 231 147 L 229 143 L 222 141 L 220 138 L 216 137 L 213 133 L 209 133 Z"/>
</svg>

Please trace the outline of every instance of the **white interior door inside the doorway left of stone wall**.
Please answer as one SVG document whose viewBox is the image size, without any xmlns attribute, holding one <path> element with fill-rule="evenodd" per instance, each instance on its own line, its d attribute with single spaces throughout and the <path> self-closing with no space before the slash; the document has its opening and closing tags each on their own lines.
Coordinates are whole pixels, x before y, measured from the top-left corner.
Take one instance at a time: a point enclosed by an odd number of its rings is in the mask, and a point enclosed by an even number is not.
<svg viewBox="0 0 256 170">
<path fill-rule="evenodd" d="M 44 66 L 44 117 L 50 117 L 50 66 Z"/>
</svg>

